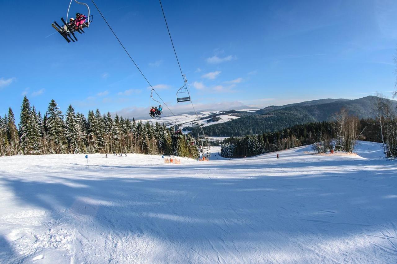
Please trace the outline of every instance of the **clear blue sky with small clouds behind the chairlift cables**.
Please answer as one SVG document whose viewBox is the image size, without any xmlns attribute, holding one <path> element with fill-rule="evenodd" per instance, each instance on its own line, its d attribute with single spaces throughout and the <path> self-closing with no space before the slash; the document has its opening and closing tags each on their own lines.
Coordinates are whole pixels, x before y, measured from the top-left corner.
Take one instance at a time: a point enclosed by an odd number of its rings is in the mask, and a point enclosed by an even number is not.
<svg viewBox="0 0 397 264">
<path fill-rule="evenodd" d="M 24 95 L 44 113 L 54 99 L 87 114 L 143 117 L 150 90 L 91 2 L 94 21 L 67 43 L 51 27 L 69 1 L 0 0 L 0 115 Z M 392 0 L 163 0 L 197 109 L 265 107 L 360 98 L 394 89 L 397 44 Z M 157 0 L 96 4 L 157 92 L 175 111 L 183 84 Z M 72 4 L 71 13 L 84 12 Z M 165 111 L 167 114 L 168 111 Z"/>
</svg>

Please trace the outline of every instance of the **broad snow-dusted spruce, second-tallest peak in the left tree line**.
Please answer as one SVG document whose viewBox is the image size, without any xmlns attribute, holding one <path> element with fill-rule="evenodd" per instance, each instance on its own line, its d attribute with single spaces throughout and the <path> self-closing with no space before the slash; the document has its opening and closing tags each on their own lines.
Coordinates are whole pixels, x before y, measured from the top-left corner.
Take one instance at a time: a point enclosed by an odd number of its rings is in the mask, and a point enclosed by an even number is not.
<svg viewBox="0 0 397 264">
<path fill-rule="evenodd" d="M 50 153 L 66 153 L 67 141 L 64 116 L 54 100 L 49 103 L 46 116 L 48 118 L 46 121 L 47 142 Z"/>
</svg>

